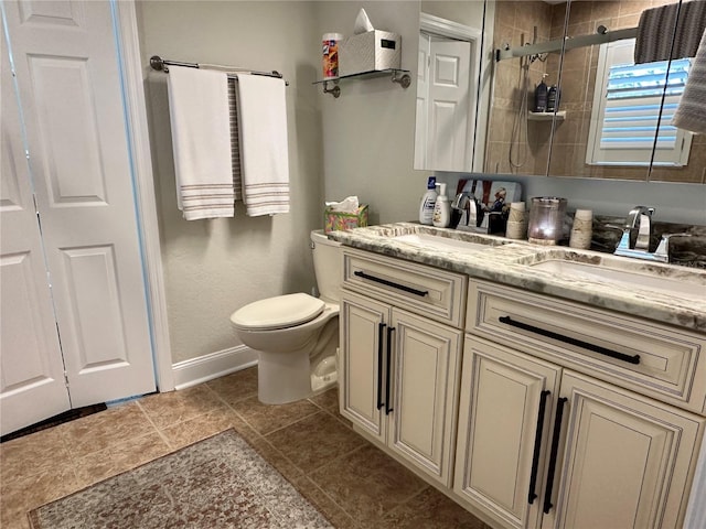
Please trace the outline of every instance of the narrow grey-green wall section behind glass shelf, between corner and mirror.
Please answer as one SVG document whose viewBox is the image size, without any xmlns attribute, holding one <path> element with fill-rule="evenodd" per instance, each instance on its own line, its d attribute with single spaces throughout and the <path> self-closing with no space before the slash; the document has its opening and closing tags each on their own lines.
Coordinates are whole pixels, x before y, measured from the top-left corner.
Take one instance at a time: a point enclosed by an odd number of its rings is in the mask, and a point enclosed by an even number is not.
<svg viewBox="0 0 706 529">
<path fill-rule="evenodd" d="M 374 28 L 402 35 L 402 67 L 416 71 L 419 2 L 318 2 L 320 33 L 351 35 L 365 8 Z M 414 75 L 413 75 L 414 79 Z M 372 223 L 414 220 L 427 172 L 413 169 L 416 89 L 389 77 L 341 82 L 341 97 L 321 96 L 327 199 L 359 195 Z"/>
</svg>

